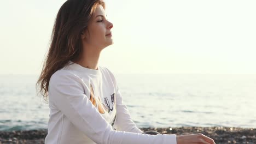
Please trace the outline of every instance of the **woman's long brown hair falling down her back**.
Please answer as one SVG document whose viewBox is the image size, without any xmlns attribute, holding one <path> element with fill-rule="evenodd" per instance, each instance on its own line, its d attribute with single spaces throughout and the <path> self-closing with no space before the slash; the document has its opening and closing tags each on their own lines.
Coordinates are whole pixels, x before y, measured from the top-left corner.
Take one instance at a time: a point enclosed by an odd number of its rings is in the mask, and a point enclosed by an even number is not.
<svg viewBox="0 0 256 144">
<path fill-rule="evenodd" d="M 80 35 L 87 30 L 88 22 L 98 5 L 105 8 L 101 0 L 68 0 L 57 13 L 48 54 L 36 83 L 37 92 L 45 101 L 51 75 L 65 67 L 69 61 L 77 61 L 82 52 Z"/>
</svg>

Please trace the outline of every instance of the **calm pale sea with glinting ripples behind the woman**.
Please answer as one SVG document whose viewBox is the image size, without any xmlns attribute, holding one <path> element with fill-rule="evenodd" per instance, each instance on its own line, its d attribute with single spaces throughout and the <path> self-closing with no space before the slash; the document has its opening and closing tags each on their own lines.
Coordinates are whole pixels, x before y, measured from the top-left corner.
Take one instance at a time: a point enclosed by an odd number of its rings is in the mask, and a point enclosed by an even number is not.
<svg viewBox="0 0 256 144">
<path fill-rule="evenodd" d="M 115 74 L 138 128 L 256 128 L 256 75 Z M 47 129 L 38 75 L 0 75 L 0 131 Z"/>
</svg>

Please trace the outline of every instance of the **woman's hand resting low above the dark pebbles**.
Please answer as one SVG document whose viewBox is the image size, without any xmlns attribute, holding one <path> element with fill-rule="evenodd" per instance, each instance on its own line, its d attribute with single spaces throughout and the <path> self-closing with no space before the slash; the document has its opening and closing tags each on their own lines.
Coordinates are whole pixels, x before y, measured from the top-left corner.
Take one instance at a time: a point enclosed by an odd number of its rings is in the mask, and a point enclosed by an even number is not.
<svg viewBox="0 0 256 144">
<path fill-rule="evenodd" d="M 203 134 L 179 135 L 176 139 L 177 144 L 215 144 L 213 139 Z"/>
</svg>

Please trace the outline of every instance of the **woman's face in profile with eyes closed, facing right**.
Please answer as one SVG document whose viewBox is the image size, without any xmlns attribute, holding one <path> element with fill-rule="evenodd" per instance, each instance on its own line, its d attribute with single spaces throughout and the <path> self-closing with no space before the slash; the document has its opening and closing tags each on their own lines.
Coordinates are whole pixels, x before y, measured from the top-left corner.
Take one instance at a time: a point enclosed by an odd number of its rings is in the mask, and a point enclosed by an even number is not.
<svg viewBox="0 0 256 144">
<path fill-rule="evenodd" d="M 88 23 L 88 31 L 82 34 L 83 43 L 90 45 L 89 47 L 97 47 L 104 49 L 113 44 L 111 28 L 113 23 L 106 19 L 106 14 L 102 5 L 98 5 L 95 14 Z"/>
</svg>

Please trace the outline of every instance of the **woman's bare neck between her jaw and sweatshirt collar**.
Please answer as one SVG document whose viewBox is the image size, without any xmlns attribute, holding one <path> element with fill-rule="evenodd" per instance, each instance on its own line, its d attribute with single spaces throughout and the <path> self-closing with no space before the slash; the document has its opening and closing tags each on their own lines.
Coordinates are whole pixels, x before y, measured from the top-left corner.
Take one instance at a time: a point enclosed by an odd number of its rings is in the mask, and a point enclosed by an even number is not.
<svg viewBox="0 0 256 144">
<path fill-rule="evenodd" d="M 82 57 L 75 63 L 82 67 L 89 69 L 98 69 L 98 59 L 100 58 L 101 51 L 96 49 L 83 49 Z"/>
</svg>

